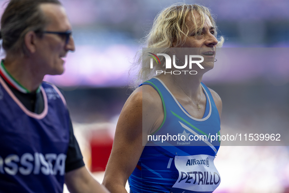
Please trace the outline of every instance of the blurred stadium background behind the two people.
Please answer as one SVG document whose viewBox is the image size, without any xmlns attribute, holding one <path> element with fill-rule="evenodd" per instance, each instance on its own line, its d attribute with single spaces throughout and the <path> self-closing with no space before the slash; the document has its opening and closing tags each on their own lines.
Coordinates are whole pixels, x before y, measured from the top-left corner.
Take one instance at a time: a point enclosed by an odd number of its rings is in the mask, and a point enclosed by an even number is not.
<svg viewBox="0 0 289 193">
<path fill-rule="evenodd" d="M 0 0 L 1 12 L 5 1 Z M 63 75 L 45 80 L 65 90 L 86 165 L 102 182 L 119 113 L 132 93 L 127 88 L 128 70 L 141 48 L 139 40 L 161 9 L 179 1 L 61 1 L 73 26 L 76 51 L 68 54 Z M 219 67 L 205 75 L 203 81 L 223 101 L 223 131 L 288 130 L 289 1 L 185 2 L 207 6 L 217 16 L 219 34 L 226 37 L 224 49 L 278 48 L 284 52 L 282 59 L 264 66 L 240 62 L 237 66 L 232 61 L 226 72 Z M 222 146 L 215 161 L 222 176 L 216 193 L 289 193 L 288 146 Z"/>
</svg>

